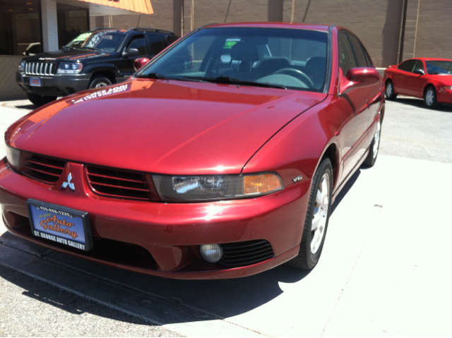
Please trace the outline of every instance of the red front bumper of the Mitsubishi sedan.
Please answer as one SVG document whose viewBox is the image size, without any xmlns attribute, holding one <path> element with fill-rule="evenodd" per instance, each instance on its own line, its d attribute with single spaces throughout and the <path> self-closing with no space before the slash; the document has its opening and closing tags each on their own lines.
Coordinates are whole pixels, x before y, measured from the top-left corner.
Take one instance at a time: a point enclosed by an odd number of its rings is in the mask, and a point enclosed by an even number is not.
<svg viewBox="0 0 452 338">
<path fill-rule="evenodd" d="M 95 195 L 83 164 L 71 164 L 76 191 L 66 191 L 16 173 L 0 164 L 0 204 L 8 231 L 55 251 L 126 270 L 177 279 L 244 277 L 295 257 L 302 239 L 310 181 L 260 198 L 212 203 L 151 203 Z M 75 248 L 32 236 L 26 201 L 88 212 L 94 248 Z M 273 258 L 252 265 L 208 263 L 198 246 L 266 240 Z"/>
</svg>

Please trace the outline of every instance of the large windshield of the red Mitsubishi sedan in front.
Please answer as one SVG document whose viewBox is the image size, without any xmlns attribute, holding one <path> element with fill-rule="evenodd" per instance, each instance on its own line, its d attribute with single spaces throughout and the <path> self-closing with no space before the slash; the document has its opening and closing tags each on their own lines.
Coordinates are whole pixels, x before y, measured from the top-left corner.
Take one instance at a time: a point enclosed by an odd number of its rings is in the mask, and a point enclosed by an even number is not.
<svg viewBox="0 0 452 338">
<path fill-rule="evenodd" d="M 139 71 L 138 77 L 274 85 L 323 91 L 326 32 L 208 28 L 190 35 Z"/>
</svg>

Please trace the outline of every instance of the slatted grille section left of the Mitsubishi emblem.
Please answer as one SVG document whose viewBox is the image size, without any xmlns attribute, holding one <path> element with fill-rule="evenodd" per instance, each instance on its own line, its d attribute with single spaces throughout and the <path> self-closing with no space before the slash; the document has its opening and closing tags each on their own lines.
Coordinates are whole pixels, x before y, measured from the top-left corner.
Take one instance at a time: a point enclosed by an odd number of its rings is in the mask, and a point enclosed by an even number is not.
<svg viewBox="0 0 452 338">
<path fill-rule="evenodd" d="M 41 155 L 24 153 L 20 171 L 37 181 L 45 183 L 56 183 L 63 174 L 66 162 L 61 159 L 52 159 Z"/>
</svg>

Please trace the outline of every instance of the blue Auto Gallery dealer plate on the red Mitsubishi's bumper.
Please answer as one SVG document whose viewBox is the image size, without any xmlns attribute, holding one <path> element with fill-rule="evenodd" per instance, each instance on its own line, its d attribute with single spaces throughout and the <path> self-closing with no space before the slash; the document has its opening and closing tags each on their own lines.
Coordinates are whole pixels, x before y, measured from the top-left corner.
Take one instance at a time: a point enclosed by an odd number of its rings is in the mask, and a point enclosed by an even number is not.
<svg viewBox="0 0 452 338">
<path fill-rule="evenodd" d="M 93 248 L 88 212 L 28 200 L 32 234 L 83 251 Z"/>
</svg>

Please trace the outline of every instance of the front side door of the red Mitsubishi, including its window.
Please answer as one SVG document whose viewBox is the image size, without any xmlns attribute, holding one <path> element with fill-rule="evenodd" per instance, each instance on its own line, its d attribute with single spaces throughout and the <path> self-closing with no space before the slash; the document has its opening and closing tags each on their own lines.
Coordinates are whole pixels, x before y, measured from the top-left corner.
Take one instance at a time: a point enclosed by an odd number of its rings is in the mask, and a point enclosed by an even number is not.
<svg viewBox="0 0 452 338">
<path fill-rule="evenodd" d="M 353 38 L 356 39 L 355 37 Z M 362 52 L 359 41 L 353 41 L 357 46 L 356 52 L 352 48 L 347 32 L 341 30 L 338 33 L 339 67 L 344 77 L 347 76 L 351 68 L 358 66 L 367 67 L 367 59 Z M 344 164 L 343 178 L 350 174 L 369 146 L 366 133 L 367 128 L 369 128 L 371 114 L 369 111 L 369 99 L 374 92 L 374 86 L 352 87 L 351 90 L 339 95 L 345 113 L 345 126 L 340 132 L 342 134 L 341 155 Z"/>
</svg>

